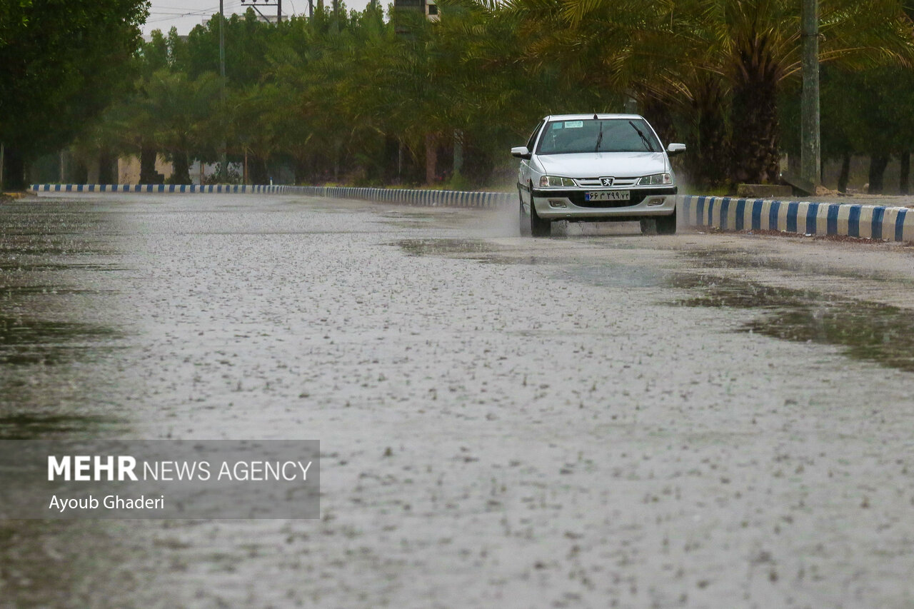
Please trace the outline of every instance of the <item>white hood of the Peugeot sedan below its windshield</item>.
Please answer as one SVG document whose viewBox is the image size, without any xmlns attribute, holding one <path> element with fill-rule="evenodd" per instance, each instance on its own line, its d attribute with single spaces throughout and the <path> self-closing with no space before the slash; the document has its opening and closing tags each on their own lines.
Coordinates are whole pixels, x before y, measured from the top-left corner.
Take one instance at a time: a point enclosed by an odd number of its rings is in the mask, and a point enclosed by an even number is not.
<svg viewBox="0 0 914 609">
<path fill-rule="evenodd" d="M 549 176 L 635 177 L 668 171 L 664 153 L 584 153 L 579 155 L 537 155 Z"/>
</svg>

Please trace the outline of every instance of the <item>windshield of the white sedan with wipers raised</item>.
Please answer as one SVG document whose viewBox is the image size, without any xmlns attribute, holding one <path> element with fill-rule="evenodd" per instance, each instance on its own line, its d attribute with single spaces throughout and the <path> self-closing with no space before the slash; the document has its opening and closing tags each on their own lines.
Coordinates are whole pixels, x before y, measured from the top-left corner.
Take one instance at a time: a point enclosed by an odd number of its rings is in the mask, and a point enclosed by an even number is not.
<svg viewBox="0 0 914 609">
<path fill-rule="evenodd" d="M 548 123 L 537 155 L 661 150 L 654 131 L 641 119 L 579 119 Z"/>
</svg>

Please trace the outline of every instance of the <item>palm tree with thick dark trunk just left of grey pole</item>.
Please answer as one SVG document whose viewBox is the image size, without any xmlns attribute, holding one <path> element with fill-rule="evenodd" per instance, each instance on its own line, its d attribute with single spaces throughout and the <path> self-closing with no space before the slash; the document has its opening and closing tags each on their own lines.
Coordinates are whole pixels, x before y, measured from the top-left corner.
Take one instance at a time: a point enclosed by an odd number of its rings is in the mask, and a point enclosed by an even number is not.
<svg viewBox="0 0 914 609">
<path fill-rule="evenodd" d="M 778 93 L 800 74 L 800 3 L 795 0 L 704 0 L 707 42 L 719 54 L 732 91 L 731 120 L 738 181 L 779 175 Z M 911 22 L 897 0 L 824 0 L 823 62 L 864 67 L 914 58 Z"/>
</svg>

